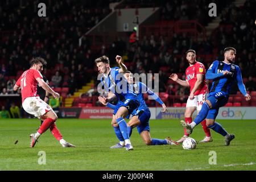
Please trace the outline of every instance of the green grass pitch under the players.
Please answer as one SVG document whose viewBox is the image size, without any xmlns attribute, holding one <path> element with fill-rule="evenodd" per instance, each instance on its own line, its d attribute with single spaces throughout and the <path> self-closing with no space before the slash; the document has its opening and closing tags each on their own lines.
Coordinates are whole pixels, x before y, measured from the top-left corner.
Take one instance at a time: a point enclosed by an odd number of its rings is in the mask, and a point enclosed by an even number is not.
<svg viewBox="0 0 256 182">
<path fill-rule="evenodd" d="M 109 148 L 117 143 L 110 119 L 58 119 L 64 139 L 76 148 L 61 147 L 49 131 L 30 148 L 29 135 L 38 129 L 39 120 L 0 119 L 0 170 L 255 170 L 256 121 L 218 122 L 236 135 L 230 146 L 224 146 L 224 138 L 214 131 L 213 142 L 199 143 L 195 150 L 146 146 L 133 129 L 134 151 L 126 151 Z M 183 135 L 179 120 L 151 120 L 150 127 L 152 138 L 176 140 Z M 203 139 L 201 126 L 191 137 Z M 39 151 L 46 152 L 46 164 L 38 164 Z M 210 151 L 216 152 L 217 164 L 209 164 Z"/>
</svg>

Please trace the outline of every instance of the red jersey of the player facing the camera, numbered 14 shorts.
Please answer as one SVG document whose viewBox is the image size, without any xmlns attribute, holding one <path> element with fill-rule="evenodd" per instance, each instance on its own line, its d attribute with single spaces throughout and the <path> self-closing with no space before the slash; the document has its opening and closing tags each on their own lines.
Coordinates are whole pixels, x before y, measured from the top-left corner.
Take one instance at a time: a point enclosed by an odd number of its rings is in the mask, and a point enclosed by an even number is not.
<svg viewBox="0 0 256 182">
<path fill-rule="evenodd" d="M 205 68 L 204 68 L 204 64 L 197 62 L 191 66 L 189 66 L 186 69 L 186 80 L 188 80 L 189 85 L 190 85 L 190 92 L 191 90 L 194 88 L 195 83 L 196 83 L 196 75 L 197 74 L 203 74 L 204 78 L 203 78 L 203 82 L 201 83 L 201 85 L 199 86 L 199 88 L 196 90 L 195 92 L 195 96 L 199 95 L 199 94 L 204 94 L 204 93 L 208 93 L 208 87 L 207 87 L 207 82 L 205 80 Z"/>
</svg>

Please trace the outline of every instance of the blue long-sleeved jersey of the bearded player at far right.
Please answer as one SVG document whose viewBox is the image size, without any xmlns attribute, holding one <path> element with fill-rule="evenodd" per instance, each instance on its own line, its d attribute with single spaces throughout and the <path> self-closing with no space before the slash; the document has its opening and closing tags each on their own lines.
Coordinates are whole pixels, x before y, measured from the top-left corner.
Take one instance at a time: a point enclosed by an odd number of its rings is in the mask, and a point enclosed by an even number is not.
<svg viewBox="0 0 256 182">
<path fill-rule="evenodd" d="M 226 70 L 231 74 L 223 75 L 223 72 Z M 229 94 L 232 84 L 236 81 L 241 93 L 244 96 L 246 94 L 245 85 L 242 82 L 241 70 L 238 65 L 216 60 L 210 65 L 205 77 L 208 80 L 213 80 L 210 92 L 224 92 L 225 94 Z"/>
</svg>

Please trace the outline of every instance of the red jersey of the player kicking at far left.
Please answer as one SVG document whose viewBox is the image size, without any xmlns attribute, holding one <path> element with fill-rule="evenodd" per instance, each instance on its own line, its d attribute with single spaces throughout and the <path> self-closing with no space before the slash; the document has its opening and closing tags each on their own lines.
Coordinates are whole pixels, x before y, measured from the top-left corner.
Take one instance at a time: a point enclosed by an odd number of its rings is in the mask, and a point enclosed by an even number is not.
<svg viewBox="0 0 256 182">
<path fill-rule="evenodd" d="M 38 90 L 38 81 L 36 78 L 43 79 L 43 76 L 36 69 L 28 69 L 27 71 L 24 71 L 18 81 L 16 81 L 16 85 L 21 88 L 22 102 L 27 97 L 38 96 L 36 94 Z"/>
</svg>

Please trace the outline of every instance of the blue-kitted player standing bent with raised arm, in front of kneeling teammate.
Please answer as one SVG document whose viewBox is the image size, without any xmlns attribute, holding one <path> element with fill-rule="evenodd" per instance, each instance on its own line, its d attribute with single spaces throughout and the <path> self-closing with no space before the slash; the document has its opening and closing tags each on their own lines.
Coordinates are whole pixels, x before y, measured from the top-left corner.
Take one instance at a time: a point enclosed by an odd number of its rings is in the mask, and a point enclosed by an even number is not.
<svg viewBox="0 0 256 182">
<path fill-rule="evenodd" d="M 139 101 L 137 95 L 133 92 L 133 88 L 129 86 L 123 75 L 119 74 L 127 71 L 126 66 L 122 63 L 122 57 L 117 55 L 115 60 L 121 68 L 110 68 L 109 58 L 107 56 L 98 57 L 95 63 L 98 72 L 101 73 L 101 84 L 104 86 L 105 92 L 108 92 L 107 101 L 114 96 L 118 98 L 119 102 L 113 113 L 112 126 L 114 130 L 116 130 L 115 126 L 119 126 L 118 130 L 120 130 L 122 137 L 125 139 L 125 148 L 129 151 L 133 150 L 133 146 L 131 145 L 127 124 L 124 118 L 131 114 L 133 110 L 137 109 Z"/>
</svg>

